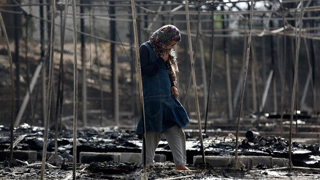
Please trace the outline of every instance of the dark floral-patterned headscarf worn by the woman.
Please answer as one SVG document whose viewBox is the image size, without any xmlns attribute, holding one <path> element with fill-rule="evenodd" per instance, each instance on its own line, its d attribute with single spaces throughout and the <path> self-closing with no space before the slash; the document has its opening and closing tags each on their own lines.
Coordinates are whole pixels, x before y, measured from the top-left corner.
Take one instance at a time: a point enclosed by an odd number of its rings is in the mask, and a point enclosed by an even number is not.
<svg viewBox="0 0 320 180">
<path fill-rule="evenodd" d="M 174 50 L 159 50 L 163 49 L 165 46 L 169 45 L 172 41 L 180 42 L 181 36 L 179 29 L 174 25 L 164 25 L 155 31 L 150 37 L 149 43 L 151 44 L 152 49 L 155 52 L 155 55 L 158 57 L 161 54 L 169 51 L 168 63 L 167 63 L 167 71 L 169 73 L 170 80 L 176 84 L 177 77 L 176 72 L 179 72 L 178 64 L 177 64 L 177 56 Z"/>
</svg>

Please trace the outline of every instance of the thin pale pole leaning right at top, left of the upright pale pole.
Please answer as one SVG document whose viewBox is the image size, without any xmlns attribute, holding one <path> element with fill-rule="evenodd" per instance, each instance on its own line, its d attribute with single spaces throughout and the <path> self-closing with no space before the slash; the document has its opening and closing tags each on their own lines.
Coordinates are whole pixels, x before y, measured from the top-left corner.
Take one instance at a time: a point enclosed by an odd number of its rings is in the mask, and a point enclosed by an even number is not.
<svg viewBox="0 0 320 180">
<path fill-rule="evenodd" d="M 50 35 L 50 60 L 49 60 L 49 80 L 47 90 L 47 106 L 46 113 L 47 118 L 45 122 L 45 132 L 42 149 L 42 164 L 41 164 L 41 179 L 44 179 L 45 167 L 46 167 L 46 155 L 47 155 L 47 143 L 48 143 L 48 131 L 49 131 L 49 117 L 51 107 L 51 95 L 52 95 L 52 77 L 53 77 L 53 55 L 54 55 L 54 20 L 55 20 L 55 0 L 51 0 L 51 35 Z"/>
</svg>

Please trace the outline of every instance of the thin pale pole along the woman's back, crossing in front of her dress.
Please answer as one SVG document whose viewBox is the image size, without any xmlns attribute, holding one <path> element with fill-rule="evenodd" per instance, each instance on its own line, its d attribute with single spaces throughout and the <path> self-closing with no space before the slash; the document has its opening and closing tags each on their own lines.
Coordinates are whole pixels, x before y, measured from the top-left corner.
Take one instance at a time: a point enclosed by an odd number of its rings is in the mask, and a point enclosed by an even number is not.
<svg viewBox="0 0 320 180">
<path fill-rule="evenodd" d="M 142 91 L 142 77 L 141 77 L 141 66 L 139 56 L 139 43 L 138 43 L 138 32 L 137 32 L 137 20 L 136 20 L 136 8 L 135 1 L 131 0 L 132 18 L 134 27 L 134 46 L 136 53 L 137 62 L 137 75 L 139 80 L 139 95 L 140 95 L 140 106 L 141 106 L 141 118 L 142 118 L 142 148 L 143 148 L 143 179 L 147 179 L 147 167 L 146 167 L 146 129 L 145 129 L 145 118 L 144 118 L 144 106 L 143 106 L 143 91 Z"/>
</svg>

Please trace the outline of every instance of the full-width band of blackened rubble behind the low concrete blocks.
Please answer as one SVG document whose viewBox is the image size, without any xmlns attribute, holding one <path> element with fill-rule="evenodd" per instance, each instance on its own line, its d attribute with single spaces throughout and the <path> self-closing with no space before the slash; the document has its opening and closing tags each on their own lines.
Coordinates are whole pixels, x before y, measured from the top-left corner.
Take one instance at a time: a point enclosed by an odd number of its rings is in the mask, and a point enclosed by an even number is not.
<svg viewBox="0 0 320 180">
<path fill-rule="evenodd" d="M 250 132 L 250 131 L 248 131 Z M 23 124 L 14 130 L 15 139 L 20 142 L 14 147 L 15 150 L 42 151 L 44 128 L 31 127 Z M 253 134 L 253 133 L 252 133 Z M 246 136 L 239 145 L 238 155 L 246 156 L 272 156 L 276 158 L 288 157 L 288 139 L 276 136 Z M 0 149 L 8 149 L 10 146 L 10 130 L 0 126 Z M 54 132 L 49 131 L 48 152 L 54 152 Z M 111 128 L 86 128 L 78 132 L 77 152 L 129 152 L 141 153 L 141 139 L 132 131 L 119 131 Z M 58 153 L 62 158 L 72 162 L 73 132 L 62 131 L 58 134 Z M 201 155 L 200 141 L 195 138 L 187 138 L 187 159 L 192 164 L 193 156 Z M 204 139 L 205 155 L 231 155 L 234 156 L 235 137 L 233 134 L 225 137 L 210 137 Z M 319 167 L 319 162 L 314 157 L 319 156 L 319 144 L 301 145 L 293 142 L 292 161 L 295 166 Z M 163 139 L 159 143 L 157 154 L 165 154 L 167 160 L 172 159 L 170 147 Z M 79 153 L 78 153 L 79 155 Z M 41 154 L 38 155 L 40 160 Z M 79 156 L 77 156 L 79 157 Z"/>
</svg>

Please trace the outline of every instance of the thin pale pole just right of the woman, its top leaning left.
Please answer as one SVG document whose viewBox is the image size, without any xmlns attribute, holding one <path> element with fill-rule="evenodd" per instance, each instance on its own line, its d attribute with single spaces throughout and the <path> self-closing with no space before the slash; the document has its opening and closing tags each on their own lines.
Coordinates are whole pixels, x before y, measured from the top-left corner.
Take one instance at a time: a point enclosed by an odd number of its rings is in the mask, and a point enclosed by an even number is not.
<svg viewBox="0 0 320 180">
<path fill-rule="evenodd" d="M 187 30 L 188 30 L 188 43 L 189 43 L 189 54 L 190 54 L 190 64 L 191 64 L 191 73 L 194 83 L 195 89 L 195 98 L 196 98 L 196 109 L 197 109 L 197 116 L 198 116 L 198 128 L 199 128 L 199 138 L 201 142 L 201 151 L 202 151 L 202 162 L 205 165 L 205 153 L 204 153 L 204 145 L 203 145 L 203 137 L 202 137 L 202 129 L 201 129 L 201 119 L 200 119 L 200 109 L 199 109 L 199 100 L 198 100 L 198 92 L 197 92 L 197 82 L 196 82 L 196 73 L 195 73 L 195 66 L 194 66 L 194 58 L 192 52 L 192 44 L 191 44 L 191 33 L 190 33 L 190 19 L 189 19 L 189 8 L 188 8 L 188 1 L 185 1 L 185 13 L 186 13 L 186 21 L 187 21 Z"/>
</svg>

